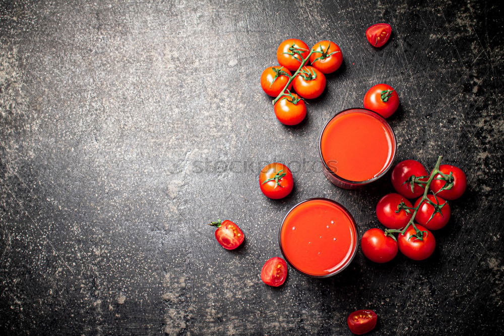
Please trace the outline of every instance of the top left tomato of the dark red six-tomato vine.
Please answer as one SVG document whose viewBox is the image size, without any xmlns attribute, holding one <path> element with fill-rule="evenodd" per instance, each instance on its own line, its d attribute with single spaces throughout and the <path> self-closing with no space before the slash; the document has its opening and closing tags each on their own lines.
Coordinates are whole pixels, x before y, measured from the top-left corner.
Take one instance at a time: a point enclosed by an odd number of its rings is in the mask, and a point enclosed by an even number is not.
<svg viewBox="0 0 504 336">
<path fill-rule="evenodd" d="M 394 189 L 406 198 L 419 197 L 425 191 L 425 184 L 413 183 L 412 185 L 414 178 L 420 178 L 420 181 L 427 181 L 429 179 L 429 173 L 427 173 L 425 167 L 415 160 L 401 161 L 392 171 L 392 185 Z M 411 190 L 412 186 L 413 190 Z"/>
</svg>

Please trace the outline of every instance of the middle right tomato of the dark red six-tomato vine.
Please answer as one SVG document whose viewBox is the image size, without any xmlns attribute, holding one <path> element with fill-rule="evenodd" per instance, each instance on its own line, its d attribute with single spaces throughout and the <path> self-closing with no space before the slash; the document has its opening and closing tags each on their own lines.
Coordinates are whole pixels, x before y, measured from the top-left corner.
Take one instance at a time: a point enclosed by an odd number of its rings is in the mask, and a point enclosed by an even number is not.
<svg viewBox="0 0 504 336">
<path fill-rule="evenodd" d="M 439 196 L 427 195 L 429 201 L 424 200 L 418 208 L 415 220 L 429 230 L 439 230 L 444 228 L 450 219 L 452 211 L 447 201 Z M 420 200 L 416 200 L 415 207 L 420 205 Z M 434 204 L 434 205 L 433 205 Z M 432 218 L 431 218 L 432 217 Z"/>
</svg>

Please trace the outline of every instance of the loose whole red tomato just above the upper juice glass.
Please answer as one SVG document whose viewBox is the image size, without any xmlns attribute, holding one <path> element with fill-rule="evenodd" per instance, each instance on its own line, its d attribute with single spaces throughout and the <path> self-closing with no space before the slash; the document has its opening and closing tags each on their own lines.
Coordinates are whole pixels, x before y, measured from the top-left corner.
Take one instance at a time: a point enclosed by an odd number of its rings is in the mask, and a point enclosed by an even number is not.
<svg viewBox="0 0 504 336">
<path fill-rule="evenodd" d="M 389 118 L 399 107 L 399 95 L 390 85 L 376 84 L 364 95 L 364 107 Z"/>
</svg>

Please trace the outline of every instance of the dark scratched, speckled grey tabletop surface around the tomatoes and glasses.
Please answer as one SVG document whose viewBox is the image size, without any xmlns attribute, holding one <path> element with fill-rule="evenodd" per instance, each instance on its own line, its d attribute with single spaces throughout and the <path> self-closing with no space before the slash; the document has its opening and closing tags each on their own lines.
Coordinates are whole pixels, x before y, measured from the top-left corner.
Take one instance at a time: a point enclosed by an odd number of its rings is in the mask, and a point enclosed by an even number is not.
<svg viewBox="0 0 504 336">
<path fill-rule="evenodd" d="M 503 20 L 498 2 L 3 1 L 0 8 L 0 328 L 3 334 L 498 334 L 504 281 Z M 364 37 L 389 22 L 382 49 Z M 344 65 L 308 118 L 282 126 L 259 86 L 287 37 L 338 43 Z M 424 262 L 359 250 L 329 279 L 265 286 L 286 211 L 344 204 L 358 230 L 390 176 L 356 191 L 318 169 L 338 110 L 386 82 L 401 108 L 396 161 L 437 155 L 468 176 Z M 296 188 L 265 198 L 266 161 Z M 246 235 L 230 252 L 205 224 Z"/>
</svg>

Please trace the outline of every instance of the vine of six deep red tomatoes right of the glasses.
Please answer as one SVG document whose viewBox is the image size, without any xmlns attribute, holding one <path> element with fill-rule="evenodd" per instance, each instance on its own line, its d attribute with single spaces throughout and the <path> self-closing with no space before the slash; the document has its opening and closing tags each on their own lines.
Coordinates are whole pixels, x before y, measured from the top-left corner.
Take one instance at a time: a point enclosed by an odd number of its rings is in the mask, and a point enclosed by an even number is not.
<svg viewBox="0 0 504 336">
<path fill-rule="evenodd" d="M 461 169 L 439 162 L 429 174 L 420 162 L 405 160 L 394 167 L 391 179 L 397 193 L 385 195 L 376 205 L 376 217 L 387 230 L 366 231 L 362 252 L 378 263 L 394 259 L 398 250 L 413 260 L 426 259 L 436 246 L 430 230 L 447 225 L 451 209 L 446 199 L 462 196 L 466 176 Z M 417 197 L 414 205 L 408 200 Z M 399 233 L 397 239 L 394 233 Z"/>
</svg>

